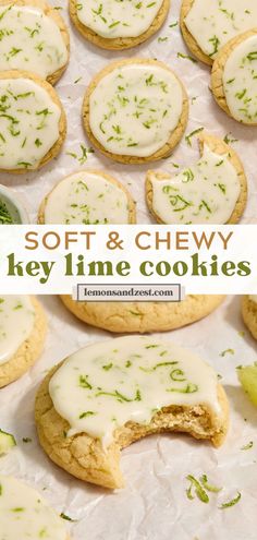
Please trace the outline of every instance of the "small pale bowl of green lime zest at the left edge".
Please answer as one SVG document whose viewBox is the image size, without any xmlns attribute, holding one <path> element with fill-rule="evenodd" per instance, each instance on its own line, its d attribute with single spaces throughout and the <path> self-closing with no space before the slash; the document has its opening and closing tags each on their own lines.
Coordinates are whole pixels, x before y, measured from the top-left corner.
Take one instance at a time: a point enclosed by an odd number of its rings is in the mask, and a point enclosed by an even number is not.
<svg viewBox="0 0 257 540">
<path fill-rule="evenodd" d="M 12 221 L 1 223 L 1 206 L 4 205 Z M 0 184 L 0 225 L 29 224 L 29 217 L 19 194 L 5 185 Z"/>
</svg>

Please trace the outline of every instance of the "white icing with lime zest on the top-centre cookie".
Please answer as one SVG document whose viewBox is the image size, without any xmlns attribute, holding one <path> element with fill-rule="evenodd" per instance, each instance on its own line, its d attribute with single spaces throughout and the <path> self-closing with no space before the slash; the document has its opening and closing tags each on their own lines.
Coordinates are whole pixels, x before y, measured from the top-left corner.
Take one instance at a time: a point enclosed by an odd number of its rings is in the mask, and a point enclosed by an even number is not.
<svg viewBox="0 0 257 540">
<path fill-rule="evenodd" d="M 162 3 L 163 0 L 79 0 L 77 17 L 106 39 L 137 37 L 151 26 Z"/>
</svg>

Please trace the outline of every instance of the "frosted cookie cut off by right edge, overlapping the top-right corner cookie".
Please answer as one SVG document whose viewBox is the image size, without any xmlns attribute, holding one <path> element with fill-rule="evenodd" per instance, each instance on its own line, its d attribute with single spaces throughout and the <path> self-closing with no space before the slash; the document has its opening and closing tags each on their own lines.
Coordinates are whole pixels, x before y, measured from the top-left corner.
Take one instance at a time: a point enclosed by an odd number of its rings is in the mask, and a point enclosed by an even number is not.
<svg viewBox="0 0 257 540">
<path fill-rule="evenodd" d="M 229 41 L 212 67 L 218 105 L 237 122 L 257 125 L 257 28 Z"/>
</svg>

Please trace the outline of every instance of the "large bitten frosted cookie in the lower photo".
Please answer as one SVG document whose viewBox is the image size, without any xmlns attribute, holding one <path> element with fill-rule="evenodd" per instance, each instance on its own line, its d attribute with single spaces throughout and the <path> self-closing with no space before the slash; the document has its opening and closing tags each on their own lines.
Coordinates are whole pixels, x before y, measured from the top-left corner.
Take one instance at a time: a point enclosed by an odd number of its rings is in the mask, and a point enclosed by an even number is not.
<svg viewBox="0 0 257 540">
<path fill-rule="evenodd" d="M 36 397 L 45 452 L 81 480 L 124 485 L 120 451 L 152 433 L 184 432 L 220 446 L 225 393 L 198 356 L 171 341 L 120 337 L 78 350 L 53 368 Z"/>
</svg>

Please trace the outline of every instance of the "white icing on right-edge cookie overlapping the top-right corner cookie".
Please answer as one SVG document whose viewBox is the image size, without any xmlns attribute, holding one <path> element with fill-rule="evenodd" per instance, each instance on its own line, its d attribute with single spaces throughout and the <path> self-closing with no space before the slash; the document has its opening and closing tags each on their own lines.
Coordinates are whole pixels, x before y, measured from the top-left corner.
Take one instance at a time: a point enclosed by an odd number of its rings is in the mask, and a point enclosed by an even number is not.
<svg viewBox="0 0 257 540">
<path fill-rule="evenodd" d="M 257 34 L 231 52 L 223 70 L 223 88 L 233 118 L 257 123 Z"/>
</svg>

